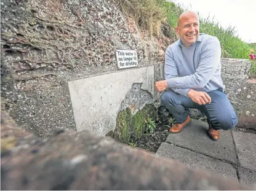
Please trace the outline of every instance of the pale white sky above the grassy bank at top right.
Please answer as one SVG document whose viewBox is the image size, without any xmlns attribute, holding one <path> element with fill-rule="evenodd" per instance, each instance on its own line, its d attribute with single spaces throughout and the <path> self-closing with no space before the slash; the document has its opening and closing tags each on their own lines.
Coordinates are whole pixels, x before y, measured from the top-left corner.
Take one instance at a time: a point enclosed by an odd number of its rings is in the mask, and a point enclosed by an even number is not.
<svg viewBox="0 0 256 191">
<path fill-rule="evenodd" d="M 171 0 L 199 12 L 199 17 L 214 17 L 224 28 L 235 27 L 247 43 L 256 42 L 256 0 Z"/>
</svg>

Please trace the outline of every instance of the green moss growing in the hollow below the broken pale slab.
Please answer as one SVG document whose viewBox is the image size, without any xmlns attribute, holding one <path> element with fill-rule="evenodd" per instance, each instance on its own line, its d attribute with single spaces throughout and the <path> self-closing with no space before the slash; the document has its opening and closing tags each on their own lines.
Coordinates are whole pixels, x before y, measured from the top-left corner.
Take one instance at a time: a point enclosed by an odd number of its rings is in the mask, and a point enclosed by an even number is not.
<svg viewBox="0 0 256 191">
<path fill-rule="evenodd" d="M 155 119 L 156 109 L 149 104 L 143 107 L 135 115 L 132 115 L 129 107 L 120 111 L 116 119 L 116 129 L 108 135 L 116 141 L 129 143 L 139 139 L 146 130 L 146 120 L 148 117 Z"/>
</svg>

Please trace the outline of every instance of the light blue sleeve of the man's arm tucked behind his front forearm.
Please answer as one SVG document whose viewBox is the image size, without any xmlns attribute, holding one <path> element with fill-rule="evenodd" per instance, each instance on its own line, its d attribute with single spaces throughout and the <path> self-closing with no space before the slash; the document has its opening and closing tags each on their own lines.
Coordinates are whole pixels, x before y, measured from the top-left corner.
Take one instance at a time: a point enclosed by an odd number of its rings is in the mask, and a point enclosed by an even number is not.
<svg viewBox="0 0 256 191">
<path fill-rule="evenodd" d="M 166 55 L 165 55 L 165 64 L 164 64 L 164 77 L 168 81 L 169 79 L 173 77 L 178 77 L 178 68 L 174 62 L 174 57 L 172 55 L 171 47 L 166 50 Z M 172 90 L 174 92 L 179 93 L 183 96 L 188 96 L 188 91 L 190 88 L 175 88 L 172 87 Z"/>
</svg>

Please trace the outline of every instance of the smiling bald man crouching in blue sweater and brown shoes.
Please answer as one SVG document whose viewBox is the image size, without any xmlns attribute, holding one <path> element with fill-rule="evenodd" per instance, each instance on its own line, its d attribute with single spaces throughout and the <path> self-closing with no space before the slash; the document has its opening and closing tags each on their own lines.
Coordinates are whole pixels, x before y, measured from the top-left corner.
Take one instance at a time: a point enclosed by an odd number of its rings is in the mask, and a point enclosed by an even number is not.
<svg viewBox="0 0 256 191">
<path fill-rule="evenodd" d="M 176 120 L 170 133 L 180 133 L 190 125 L 188 108 L 199 109 L 207 117 L 208 135 L 217 141 L 219 130 L 230 130 L 238 123 L 223 90 L 220 76 L 221 48 L 217 37 L 199 33 L 198 15 L 188 10 L 178 18 L 176 33 L 180 39 L 166 50 L 166 80 L 156 82 L 162 104 Z"/>
</svg>

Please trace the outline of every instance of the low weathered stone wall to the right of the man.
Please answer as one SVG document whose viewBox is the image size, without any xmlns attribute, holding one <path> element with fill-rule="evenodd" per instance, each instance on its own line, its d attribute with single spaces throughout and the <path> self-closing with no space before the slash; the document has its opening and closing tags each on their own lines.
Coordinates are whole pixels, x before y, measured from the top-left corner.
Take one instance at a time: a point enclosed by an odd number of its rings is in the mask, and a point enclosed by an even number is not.
<svg viewBox="0 0 256 191">
<path fill-rule="evenodd" d="M 255 80 L 249 79 L 250 60 L 222 58 L 222 79 L 225 93 L 230 99 L 241 128 L 256 129 Z M 191 110 L 192 117 L 201 116 L 201 112 Z"/>
</svg>

